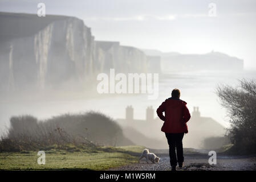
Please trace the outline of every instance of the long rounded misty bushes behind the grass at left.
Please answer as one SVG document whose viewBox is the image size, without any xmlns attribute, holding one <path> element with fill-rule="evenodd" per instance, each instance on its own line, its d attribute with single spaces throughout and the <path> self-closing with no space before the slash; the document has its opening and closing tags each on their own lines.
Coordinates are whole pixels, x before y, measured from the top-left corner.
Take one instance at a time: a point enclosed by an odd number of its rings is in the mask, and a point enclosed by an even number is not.
<svg viewBox="0 0 256 182">
<path fill-rule="evenodd" d="M 46 121 L 31 115 L 11 117 L 10 129 L 0 141 L 0 151 L 38 150 L 47 146 L 94 147 L 133 144 L 120 126 L 104 114 L 64 114 Z"/>
</svg>

